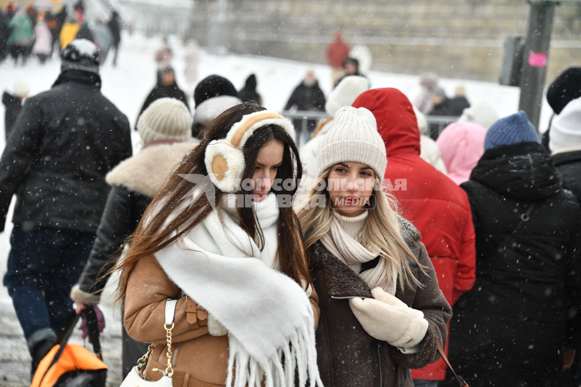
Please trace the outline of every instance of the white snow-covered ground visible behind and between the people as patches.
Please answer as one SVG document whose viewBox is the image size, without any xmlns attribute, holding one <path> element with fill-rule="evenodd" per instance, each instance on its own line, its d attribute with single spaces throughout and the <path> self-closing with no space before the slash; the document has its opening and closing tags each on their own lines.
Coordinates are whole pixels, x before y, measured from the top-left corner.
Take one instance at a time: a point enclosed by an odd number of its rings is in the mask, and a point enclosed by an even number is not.
<svg viewBox="0 0 581 387">
<path fill-rule="evenodd" d="M 177 41 L 173 44 L 174 67 L 177 73 L 178 84 L 191 95 L 191 86 L 184 80 L 183 49 Z M 145 39 L 139 35 L 125 37 L 119 57 L 119 66 L 112 67 L 106 63 L 102 67 L 103 93 L 109 97 L 128 115 L 131 125 L 135 125 L 137 114 L 150 89 L 155 84 L 156 67 L 153 62 L 153 53 L 159 48 L 158 39 Z M 453 66 L 453 63 L 450 64 Z M 271 59 L 259 56 L 239 55 L 209 55 L 202 53 L 199 63 L 199 79 L 210 74 L 223 75 L 230 79 L 236 88 L 242 88 L 246 77 L 255 73 L 258 78 L 258 91 L 263 96 L 264 106 L 272 110 L 282 110 L 293 88 L 299 84 L 307 69 L 315 71 L 325 95 L 331 91 L 331 71 L 327 66 L 293 62 L 290 60 Z M 56 59 L 41 66 L 32 58 L 26 67 L 15 68 L 12 61 L 6 60 L 0 64 L 0 92 L 10 91 L 15 81 L 21 80 L 30 87 L 31 95 L 50 88 L 59 73 L 59 62 Z M 394 87 L 404 93 L 409 93 L 418 83 L 418 77 L 403 74 L 388 74 L 372 72 L 371 84 L 374 88 Z M 462 85 L 467 89 L 468 99 L 474 103 L 486 100 L 496 107 L 501 115 L 515 113 L 518 108 L 519 89 L 499 86 L 490 82 L 463 81 L 461 79 L 442 79 L 442 85 L 450 95 L 456 86 Z M 4 147 L 4 108 L 0 105 L 0 150 Z M 550 108 L 543 102 L 543 115 L 540 127 L 547 127 Z M 139 138 L 134 133 L 134 144 L 137 149 Z M 12 224 L 6 225 L 6 230 L 0 233 L 0 274 L 5 272 L 6 258 L 10 248 L 9 235 Z M 121 381 L 120 356 L 121 321 L 119 309 L 115 309 L 107 299 L 111 299 L 111 290 L 104 296 L 103 312 L 106 316 L 107 327 L 103 335 L 103 356 L 110 366 L 110 386 L 118 386 Z M 5 287 L 0 287 L 0 385 L 3 387 L 24 387 L 30 385 L 28 376 L 30 357 L 26 349 L 26 342 L 22 337 L 20 325 L 12 307 L 12 301 Z M 79 335 L 73 341 L 82 343 Z M 137 360 L 137 359 L 136 359 Z"/>
</svg>

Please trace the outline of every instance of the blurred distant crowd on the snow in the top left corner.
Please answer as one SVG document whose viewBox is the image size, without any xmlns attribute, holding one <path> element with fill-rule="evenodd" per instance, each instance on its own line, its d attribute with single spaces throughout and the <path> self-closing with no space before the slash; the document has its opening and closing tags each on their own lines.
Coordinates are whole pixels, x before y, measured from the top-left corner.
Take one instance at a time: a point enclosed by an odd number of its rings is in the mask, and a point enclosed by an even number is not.
<svg viewBox="0 0 581 387">
<path fill-rule="evenodd" d="M 116 11 L 108 21 L 85 18 L 83 0 L 75 3 L 72 12 L 63 6 L 60 10 L 42 10 L 34 5 L 9 3 L 0 9 L 0 62 L 11 56 L 15 66 L 24 66 L 30 56 L 38 57 L 41 64 L 64 49 L 76 38 L 94 42 L 106 59 L 114 50 L 113 65 L 121 43 L 121 20 Z"/>
</svg>

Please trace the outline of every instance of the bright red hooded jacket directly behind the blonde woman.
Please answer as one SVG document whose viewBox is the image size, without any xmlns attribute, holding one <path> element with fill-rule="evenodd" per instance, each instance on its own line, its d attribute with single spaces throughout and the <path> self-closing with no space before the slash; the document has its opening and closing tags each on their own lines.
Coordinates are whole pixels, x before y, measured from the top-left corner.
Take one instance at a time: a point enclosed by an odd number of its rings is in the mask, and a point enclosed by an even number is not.
<svg viewBox="0 0 581 387">
<path fill-rule="evenodd" d="M 413 107 L 393 88 L 361 94 L 354 107 L 371 110 L 388 153 L 385 183 L 393 187 L 402 215 L 422 233 L 440 289 L 451 306 L 475 281 L 474 225 L 464 190 L 419 157 L 419 131 Z M 447 348 L 446 348 L 447 350 Z M 443 380 L 442 359 L 420 370 L 414 379 Z"/>
</svg>

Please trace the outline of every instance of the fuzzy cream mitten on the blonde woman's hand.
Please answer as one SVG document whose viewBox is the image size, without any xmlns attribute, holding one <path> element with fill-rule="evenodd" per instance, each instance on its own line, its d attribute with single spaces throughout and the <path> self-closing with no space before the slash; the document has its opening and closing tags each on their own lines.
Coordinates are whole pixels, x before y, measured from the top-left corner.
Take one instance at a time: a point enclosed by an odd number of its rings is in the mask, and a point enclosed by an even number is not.
<svg viewBox="0 0 581 387">
<path fill-rule="evenodd" d="M 424 339 L 428 321 L 396 296 L 375 288 L 374 298 L 352 298 L 349 306 L 368 334 L 398 348 L 411 348 Z"/>
</svg>

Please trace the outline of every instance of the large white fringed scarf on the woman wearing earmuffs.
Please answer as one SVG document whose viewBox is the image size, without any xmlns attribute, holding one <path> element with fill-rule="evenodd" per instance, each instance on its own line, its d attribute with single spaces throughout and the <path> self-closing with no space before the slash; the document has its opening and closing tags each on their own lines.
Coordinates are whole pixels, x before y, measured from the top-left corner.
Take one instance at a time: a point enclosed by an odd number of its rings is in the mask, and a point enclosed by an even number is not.
<svg viewBox="0 0 581 387">
<path fill-rule="evenodd" d="M 275 195 L 254 207 L 267 238 L 277 227 Z M 309 379 L 311 387 L 322 387 L 309 298 L 261 261 L 276 249 L 275 237 L 265 242 L 270 246 L 261 252 L 231 216 L 212 211 L 155 256 L 167 276 L 228 331 L 227 386 L 260 387 L 264 375 L 266 387 L 294 387 L 296 369 L 298 386 Z"/>
</svg>

